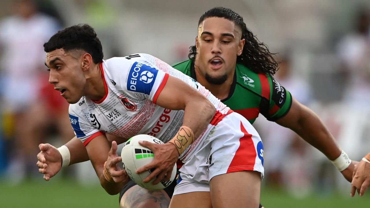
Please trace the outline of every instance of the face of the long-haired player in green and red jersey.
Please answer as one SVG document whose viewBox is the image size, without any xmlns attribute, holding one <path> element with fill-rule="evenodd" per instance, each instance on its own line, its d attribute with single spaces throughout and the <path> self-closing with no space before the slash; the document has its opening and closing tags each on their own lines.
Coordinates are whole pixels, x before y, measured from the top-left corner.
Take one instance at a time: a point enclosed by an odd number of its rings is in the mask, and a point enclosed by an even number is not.
<svg viewBox="0 0 370 208">
<path fill-rule="evenodd" d="M 245 42 L 241 37 L 241 28 L 225 18 L 209 17 L 199 25 L 195 65 L 210 84 L 222 84 L 233 74 Z"/>
</svg>

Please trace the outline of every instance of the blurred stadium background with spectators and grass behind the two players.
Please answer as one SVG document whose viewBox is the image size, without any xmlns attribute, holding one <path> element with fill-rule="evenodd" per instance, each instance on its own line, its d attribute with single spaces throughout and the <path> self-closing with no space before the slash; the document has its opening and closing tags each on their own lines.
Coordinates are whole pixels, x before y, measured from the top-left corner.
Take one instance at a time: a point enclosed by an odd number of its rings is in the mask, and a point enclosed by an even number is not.
<svg viewBox="0 0 370 208">
<path fill-rule="evenodd" d="M 49 182 L 36 167 L 40 142 L 59 147 L 73 137 L 67 103 L 47 82 L 42 44 L 78 23 L 96 29 L 104 58 L 149 53 L 172 64 L 187 59 L 201 14 L 228 7 L 279 53 L 284 62 L 277 80 L 322 118 L 350 158 L 360 160 L 370 151 L 368 0 L 0 0 L 0 5 L 1 207 L 118 207 L 118 196 L 104 192 L 89 162 Z M 350 198 L 349 182 L 290 130 L 262 116 L 255 127 L 265 146 L 265 207 L 370 207 L 370 193 Z"/>
</svg>

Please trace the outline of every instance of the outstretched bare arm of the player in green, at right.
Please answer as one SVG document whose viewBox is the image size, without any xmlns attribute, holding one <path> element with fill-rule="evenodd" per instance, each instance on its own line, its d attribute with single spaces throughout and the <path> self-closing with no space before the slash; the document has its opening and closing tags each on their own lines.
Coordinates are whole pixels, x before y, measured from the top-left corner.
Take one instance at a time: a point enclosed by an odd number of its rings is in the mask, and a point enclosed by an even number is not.
<svg viewBox="0 0 370 208">
<path fill-rule="evenodd" d="M 342 150 L 320 118 L 293 97 L 289 112 L 276 120 L 276 123 L 295 131 L 306 142 L 326 155 L 329 160 L 333 161 L 341 155 Z M 342 171 L 348 181 L 352 180 L 353 168 L 352 163 Z"/>
</svg>

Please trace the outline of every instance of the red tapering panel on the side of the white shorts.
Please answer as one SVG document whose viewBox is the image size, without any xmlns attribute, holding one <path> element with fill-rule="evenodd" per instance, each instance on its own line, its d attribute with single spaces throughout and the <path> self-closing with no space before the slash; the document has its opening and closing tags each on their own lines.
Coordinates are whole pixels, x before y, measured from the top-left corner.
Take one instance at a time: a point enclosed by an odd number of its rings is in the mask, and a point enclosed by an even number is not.
<svg viewBox="0 0 370 208">
<path fill-rule="evenodd" d="M 226 173 L 253 170 L 255 165 L 257 153 L 252 140 L 252 134 L 249 134 L 247 130 L 245 130 L 241 121 L 240 130 L 244 133 L 244 136 L 239 139 L 239 148 L 236 150 L 234 158 Z"/>
</svg>

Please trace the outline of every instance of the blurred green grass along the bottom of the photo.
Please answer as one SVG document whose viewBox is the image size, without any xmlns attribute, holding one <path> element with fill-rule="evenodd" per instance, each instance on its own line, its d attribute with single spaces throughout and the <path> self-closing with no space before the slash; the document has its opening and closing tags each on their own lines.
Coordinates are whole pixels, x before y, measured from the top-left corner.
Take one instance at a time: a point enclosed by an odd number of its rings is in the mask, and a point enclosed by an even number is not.
<svg viewBox="0 0 370 208">
<path fill-rule="evenodd" d="M 54 179 L 54 178 L 53 178 Z M 262 188 L 261 203 L 266 208 L 370 208 L 370 190 L 365 196 L 350 198 L 340 194 L 312 194 L 297 199 L 286 191 Z M 348 190 L 349 192 L 349 190 Z M 94 182 L 88 187 L 73 180 L 35 180 L 12 185 L 0 181 L 0 207 L 119 207 L 118 195 L 108 195 Z"/>
</svg>

